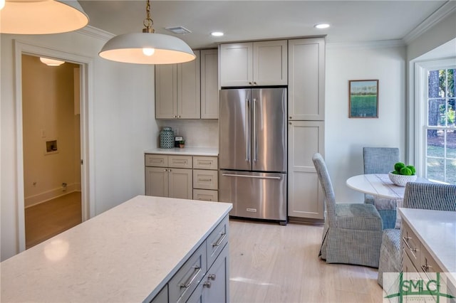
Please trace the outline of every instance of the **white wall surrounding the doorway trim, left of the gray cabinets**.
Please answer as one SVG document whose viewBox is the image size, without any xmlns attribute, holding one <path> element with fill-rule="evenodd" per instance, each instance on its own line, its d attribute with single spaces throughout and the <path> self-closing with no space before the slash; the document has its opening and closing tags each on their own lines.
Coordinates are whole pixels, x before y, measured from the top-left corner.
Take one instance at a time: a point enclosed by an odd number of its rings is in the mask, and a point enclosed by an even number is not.
<svg viewBox="0 0 456 303">
<path fill-rule="evenodd" d="M 43 36 L 1 34 L 1 260 L 19 252 L 16 183 L 16 100 L 13 39 L 93 58 L 89 92 L 91 184 L 94 214 L 144 194 L 143 151 L 156 147 L 154 68 L 98 57 L 103 35 L 81 32 Z M 90 80 L 90 79 L 89 79 Z"/>
</svg>

